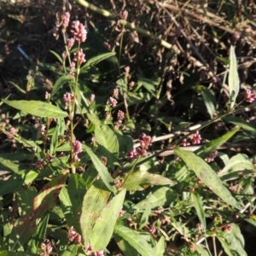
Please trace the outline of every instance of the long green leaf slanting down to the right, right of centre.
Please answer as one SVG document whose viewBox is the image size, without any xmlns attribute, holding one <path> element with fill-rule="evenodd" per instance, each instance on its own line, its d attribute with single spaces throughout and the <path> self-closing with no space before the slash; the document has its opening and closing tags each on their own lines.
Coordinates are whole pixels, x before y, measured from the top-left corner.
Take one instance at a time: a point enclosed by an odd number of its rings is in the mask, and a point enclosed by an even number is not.
<svg viewBox="0 0 256 256">
<path fill-rule="evenodd" d="M 182 148 L 175 148 L 174 152 L 193 172 L 195 172 L 195 175 L 199 177 L 214 194 L 218 195 L 230 206 L 236 208 L 240 207 L 236 199 L 230 194 L 229 189 L 224 187 L 216 172 L 214 172 L 211 166 L 207 165 L 204 160 L 196 156 L 194 153 L 183 150 Z"/>
</svg>

